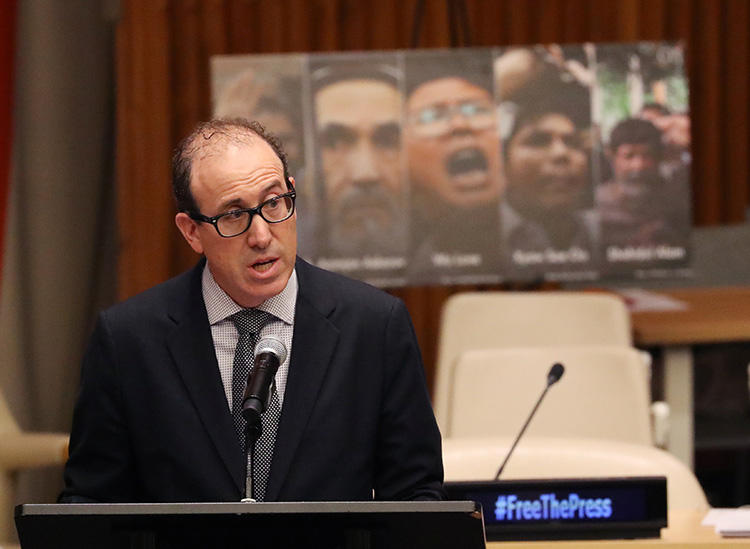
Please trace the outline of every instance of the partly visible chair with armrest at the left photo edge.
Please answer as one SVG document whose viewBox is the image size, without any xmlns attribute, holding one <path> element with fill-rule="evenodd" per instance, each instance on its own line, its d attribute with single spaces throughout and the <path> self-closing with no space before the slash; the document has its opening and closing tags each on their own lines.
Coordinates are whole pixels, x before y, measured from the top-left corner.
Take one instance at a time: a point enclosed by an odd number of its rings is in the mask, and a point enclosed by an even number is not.
<svg viewBox="0 0 750 549">
<path fill-rule="evenodd" d="M 0 392 L 0 547 L 16 547 L 13 506 L 16 476 L 24 469 L 58 465 L 68 456 L 68 435 L 22 432 Z"/>
</svg>

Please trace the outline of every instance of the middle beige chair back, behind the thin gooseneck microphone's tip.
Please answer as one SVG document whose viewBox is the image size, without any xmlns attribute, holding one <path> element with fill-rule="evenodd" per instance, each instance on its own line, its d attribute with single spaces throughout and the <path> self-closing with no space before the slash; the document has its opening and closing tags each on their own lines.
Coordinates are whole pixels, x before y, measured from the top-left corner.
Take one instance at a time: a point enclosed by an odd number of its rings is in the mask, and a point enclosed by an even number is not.
<svg viewBox="0 0 750 549">
<path fill-rule="evenodd" d="M 565 374 L 547 393 L 526 435 L 652 444 L 649 372 L 629 347 L 533 347 L 468 351 L 449 380 L 445 437 L 514 436 L 555 362 Z"/>
</svg>

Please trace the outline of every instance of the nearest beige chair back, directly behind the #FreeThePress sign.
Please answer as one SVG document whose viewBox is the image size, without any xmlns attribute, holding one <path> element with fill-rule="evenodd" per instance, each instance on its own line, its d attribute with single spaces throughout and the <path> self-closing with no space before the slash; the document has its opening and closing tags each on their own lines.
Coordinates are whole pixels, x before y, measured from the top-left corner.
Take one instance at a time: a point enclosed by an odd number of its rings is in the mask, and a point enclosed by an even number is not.
<svg viewBox="0 0 750 549">
<path fill-rule="evenodd" d="M 443 440 L 446 481 L 492 480 L 512 437 Z M 672 454 L 613 440 L 529 437 L 516 447 L 501 479 L 667 477 L 667 509 L 706 512 L 695 475 Z"/>
</svg>

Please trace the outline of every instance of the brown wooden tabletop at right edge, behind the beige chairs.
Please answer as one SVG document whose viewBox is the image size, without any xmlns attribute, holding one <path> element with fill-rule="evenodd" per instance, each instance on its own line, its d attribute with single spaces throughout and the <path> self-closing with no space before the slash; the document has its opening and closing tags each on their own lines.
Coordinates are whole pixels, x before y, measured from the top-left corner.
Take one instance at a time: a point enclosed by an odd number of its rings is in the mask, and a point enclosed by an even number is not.
<svg viewBox="0 0 750 549">
<path fill-rule="evenodd" d="M 685 310 L 631 314 L 637 345 L 690 345 L 750 340 L 750 286 L 655 290 Z"/>
</svg>

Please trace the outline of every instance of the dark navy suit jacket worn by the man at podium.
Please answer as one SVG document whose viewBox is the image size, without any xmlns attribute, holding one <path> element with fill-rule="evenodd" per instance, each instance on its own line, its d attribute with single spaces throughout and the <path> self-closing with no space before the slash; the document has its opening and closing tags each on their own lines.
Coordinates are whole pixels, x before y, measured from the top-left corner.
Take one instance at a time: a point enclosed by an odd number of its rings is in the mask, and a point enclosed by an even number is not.
<svg viewBox="0 0 750 549">
<path fill-rule="evenodd" d="M 238 501 L 244 456 L 201 292 L 204 261 L 102 312 L 61 501 Z M 403 303 L 297 260 L 268 501 L 440 499 L 440 434 Z"/>
</svg>

